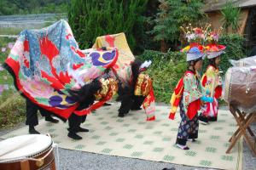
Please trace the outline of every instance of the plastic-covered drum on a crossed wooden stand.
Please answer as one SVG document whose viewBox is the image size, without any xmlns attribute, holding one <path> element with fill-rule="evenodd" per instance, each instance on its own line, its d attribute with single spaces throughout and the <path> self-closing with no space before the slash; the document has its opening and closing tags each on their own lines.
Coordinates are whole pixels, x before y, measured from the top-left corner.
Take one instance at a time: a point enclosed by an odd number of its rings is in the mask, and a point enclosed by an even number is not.
<svg viewBox="0 0 256 170">
<path fill-rule="evenodd" d="M 224 100 L 242 111 L 256 111 L 256 67 L 231 67 L 225 75 Z"/>
</svg>

